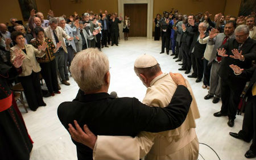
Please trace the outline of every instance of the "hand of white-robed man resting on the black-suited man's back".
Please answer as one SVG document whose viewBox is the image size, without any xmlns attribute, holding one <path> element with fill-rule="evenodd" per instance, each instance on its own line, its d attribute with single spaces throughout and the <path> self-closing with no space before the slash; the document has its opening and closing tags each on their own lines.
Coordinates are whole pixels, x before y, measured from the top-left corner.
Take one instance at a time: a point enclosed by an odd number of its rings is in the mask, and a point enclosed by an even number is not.
<svg viewBox="0 0 256 160">
<path fill-rule="evenodd" d="M 68 124 L 68 130 L 72 139 L 93 149 L 96 144 L 97 137 L 89 130 L 87 125 L 84 125 L 84 130 L 82 130 L 76 120 L 74 120 L 74 123 L 76 129 L 72 124 Z"/>
</svg>

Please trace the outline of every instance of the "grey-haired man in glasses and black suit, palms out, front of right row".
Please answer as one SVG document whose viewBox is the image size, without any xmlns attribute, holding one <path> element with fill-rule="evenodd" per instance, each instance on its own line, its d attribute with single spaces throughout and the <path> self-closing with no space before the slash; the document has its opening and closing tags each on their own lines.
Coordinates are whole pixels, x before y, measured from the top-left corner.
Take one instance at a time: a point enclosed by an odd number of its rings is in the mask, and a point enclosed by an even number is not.
<svg viewBox="0 0 256 160">
<path fill-rule="evenodd" d="M 243 69 L 251 67 L 251 61 L 256 60 L 256 41 L 249 37 L 249 27 L 242 24 L 234 31 L 236 39 L 230 39 L 218 49 L 222 62 L 218 74 L 221 77 L 221 111 L 214 116 L 229 117 L 229 127 L 234 126 L 240 95 L 245 87 L 246 79 L 236 77 L 229 65 L 237 65 Z"/>
</svg>

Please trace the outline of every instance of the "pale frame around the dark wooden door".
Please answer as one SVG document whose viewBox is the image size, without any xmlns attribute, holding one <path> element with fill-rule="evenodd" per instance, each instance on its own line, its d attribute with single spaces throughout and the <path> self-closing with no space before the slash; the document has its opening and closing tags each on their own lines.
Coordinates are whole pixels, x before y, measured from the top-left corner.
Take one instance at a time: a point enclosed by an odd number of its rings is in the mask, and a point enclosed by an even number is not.
<svg viewBox="0 0 256 160">
<path fill-rule="evenodd" d="M 152 39 L 152 31 L 153 31 L 153 6 L 154 0 L 118 0 L 118 13 L 125 16 L 124 4 L 138 4 L 138 3 L 146 3 L 147 4 L 147 38 Z M 124 18 L 124 17 L 123 17 Z M 131 20 L 131 23 L 133 21 Z M 123 38 L 123 23 L 119 25 L 119 35 Z"/>
</svg>

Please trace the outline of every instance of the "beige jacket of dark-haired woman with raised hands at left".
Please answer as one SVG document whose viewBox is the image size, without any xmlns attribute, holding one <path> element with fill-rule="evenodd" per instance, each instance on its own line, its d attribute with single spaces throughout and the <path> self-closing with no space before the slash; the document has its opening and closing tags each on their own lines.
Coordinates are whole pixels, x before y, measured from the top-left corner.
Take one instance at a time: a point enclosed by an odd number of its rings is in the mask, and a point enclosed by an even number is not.
<svg viewBox="0 0 256 160">
<path fill-rule="evenodd" d="M 11 62 L 14 61 L 14 58 L 16 57 L 14 50 L 19 49 L 18 45 L 15 45 L 10 49 L 11 51 Z M 22 63 L 22 73 L 19 74 L 19 76 L 27 76 L 34 72 L 39 72 L 41 70 L 40 65 L 38 61 L 36 61 L 36 57 L 43 57 L 44 54 L 46 54 L 43 50 L 39 51 L 31 44 L 25 44 L 26 53 L 21 51 L 21 54 L 25 56 L 23 63 Z"/>
</svg>

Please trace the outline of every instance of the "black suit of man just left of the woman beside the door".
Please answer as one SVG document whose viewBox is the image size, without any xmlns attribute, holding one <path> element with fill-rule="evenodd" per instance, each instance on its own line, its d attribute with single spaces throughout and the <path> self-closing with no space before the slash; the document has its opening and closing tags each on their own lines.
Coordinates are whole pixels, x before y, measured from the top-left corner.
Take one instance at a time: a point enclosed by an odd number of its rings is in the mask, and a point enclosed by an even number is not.
<svg viewBox="0 0 256 160">
<path fill-rule="evenodd" d="M 110 33 L 111 33 L 111 45 L 118 45 L 118 33 L 119 33 L 119 26 L 118 23 L 121 23 L 121 20 L 118 18 L 110 19 Z"/>
</svg>

